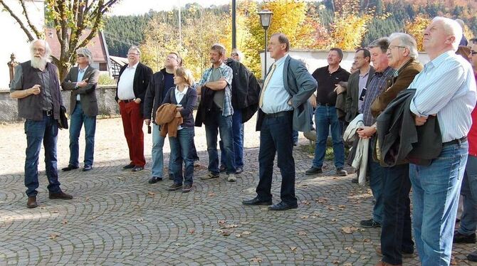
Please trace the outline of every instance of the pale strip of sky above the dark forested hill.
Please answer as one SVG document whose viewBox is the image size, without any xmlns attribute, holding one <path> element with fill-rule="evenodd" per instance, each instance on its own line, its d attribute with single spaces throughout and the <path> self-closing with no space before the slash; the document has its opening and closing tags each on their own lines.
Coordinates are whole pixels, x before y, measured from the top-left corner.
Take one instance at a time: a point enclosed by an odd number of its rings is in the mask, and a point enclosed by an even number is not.
<svg viewBox="0 0 477 266">
<path fill-rule="evenodd" d="M 169 11 L 174 9 L 174 7 L 179 6 L 179 2 L 181 6 L 196 2 L 201 6 L 206 7 L 211 4 L 217 6 L 229 4 L 231 3 L 231 0 L 121 0 L 118 4 L 112 6 L 110 14 L 116 16 L 145 14 L 150 11 L 150 9 L 154 11 Z"/>
</svg>

